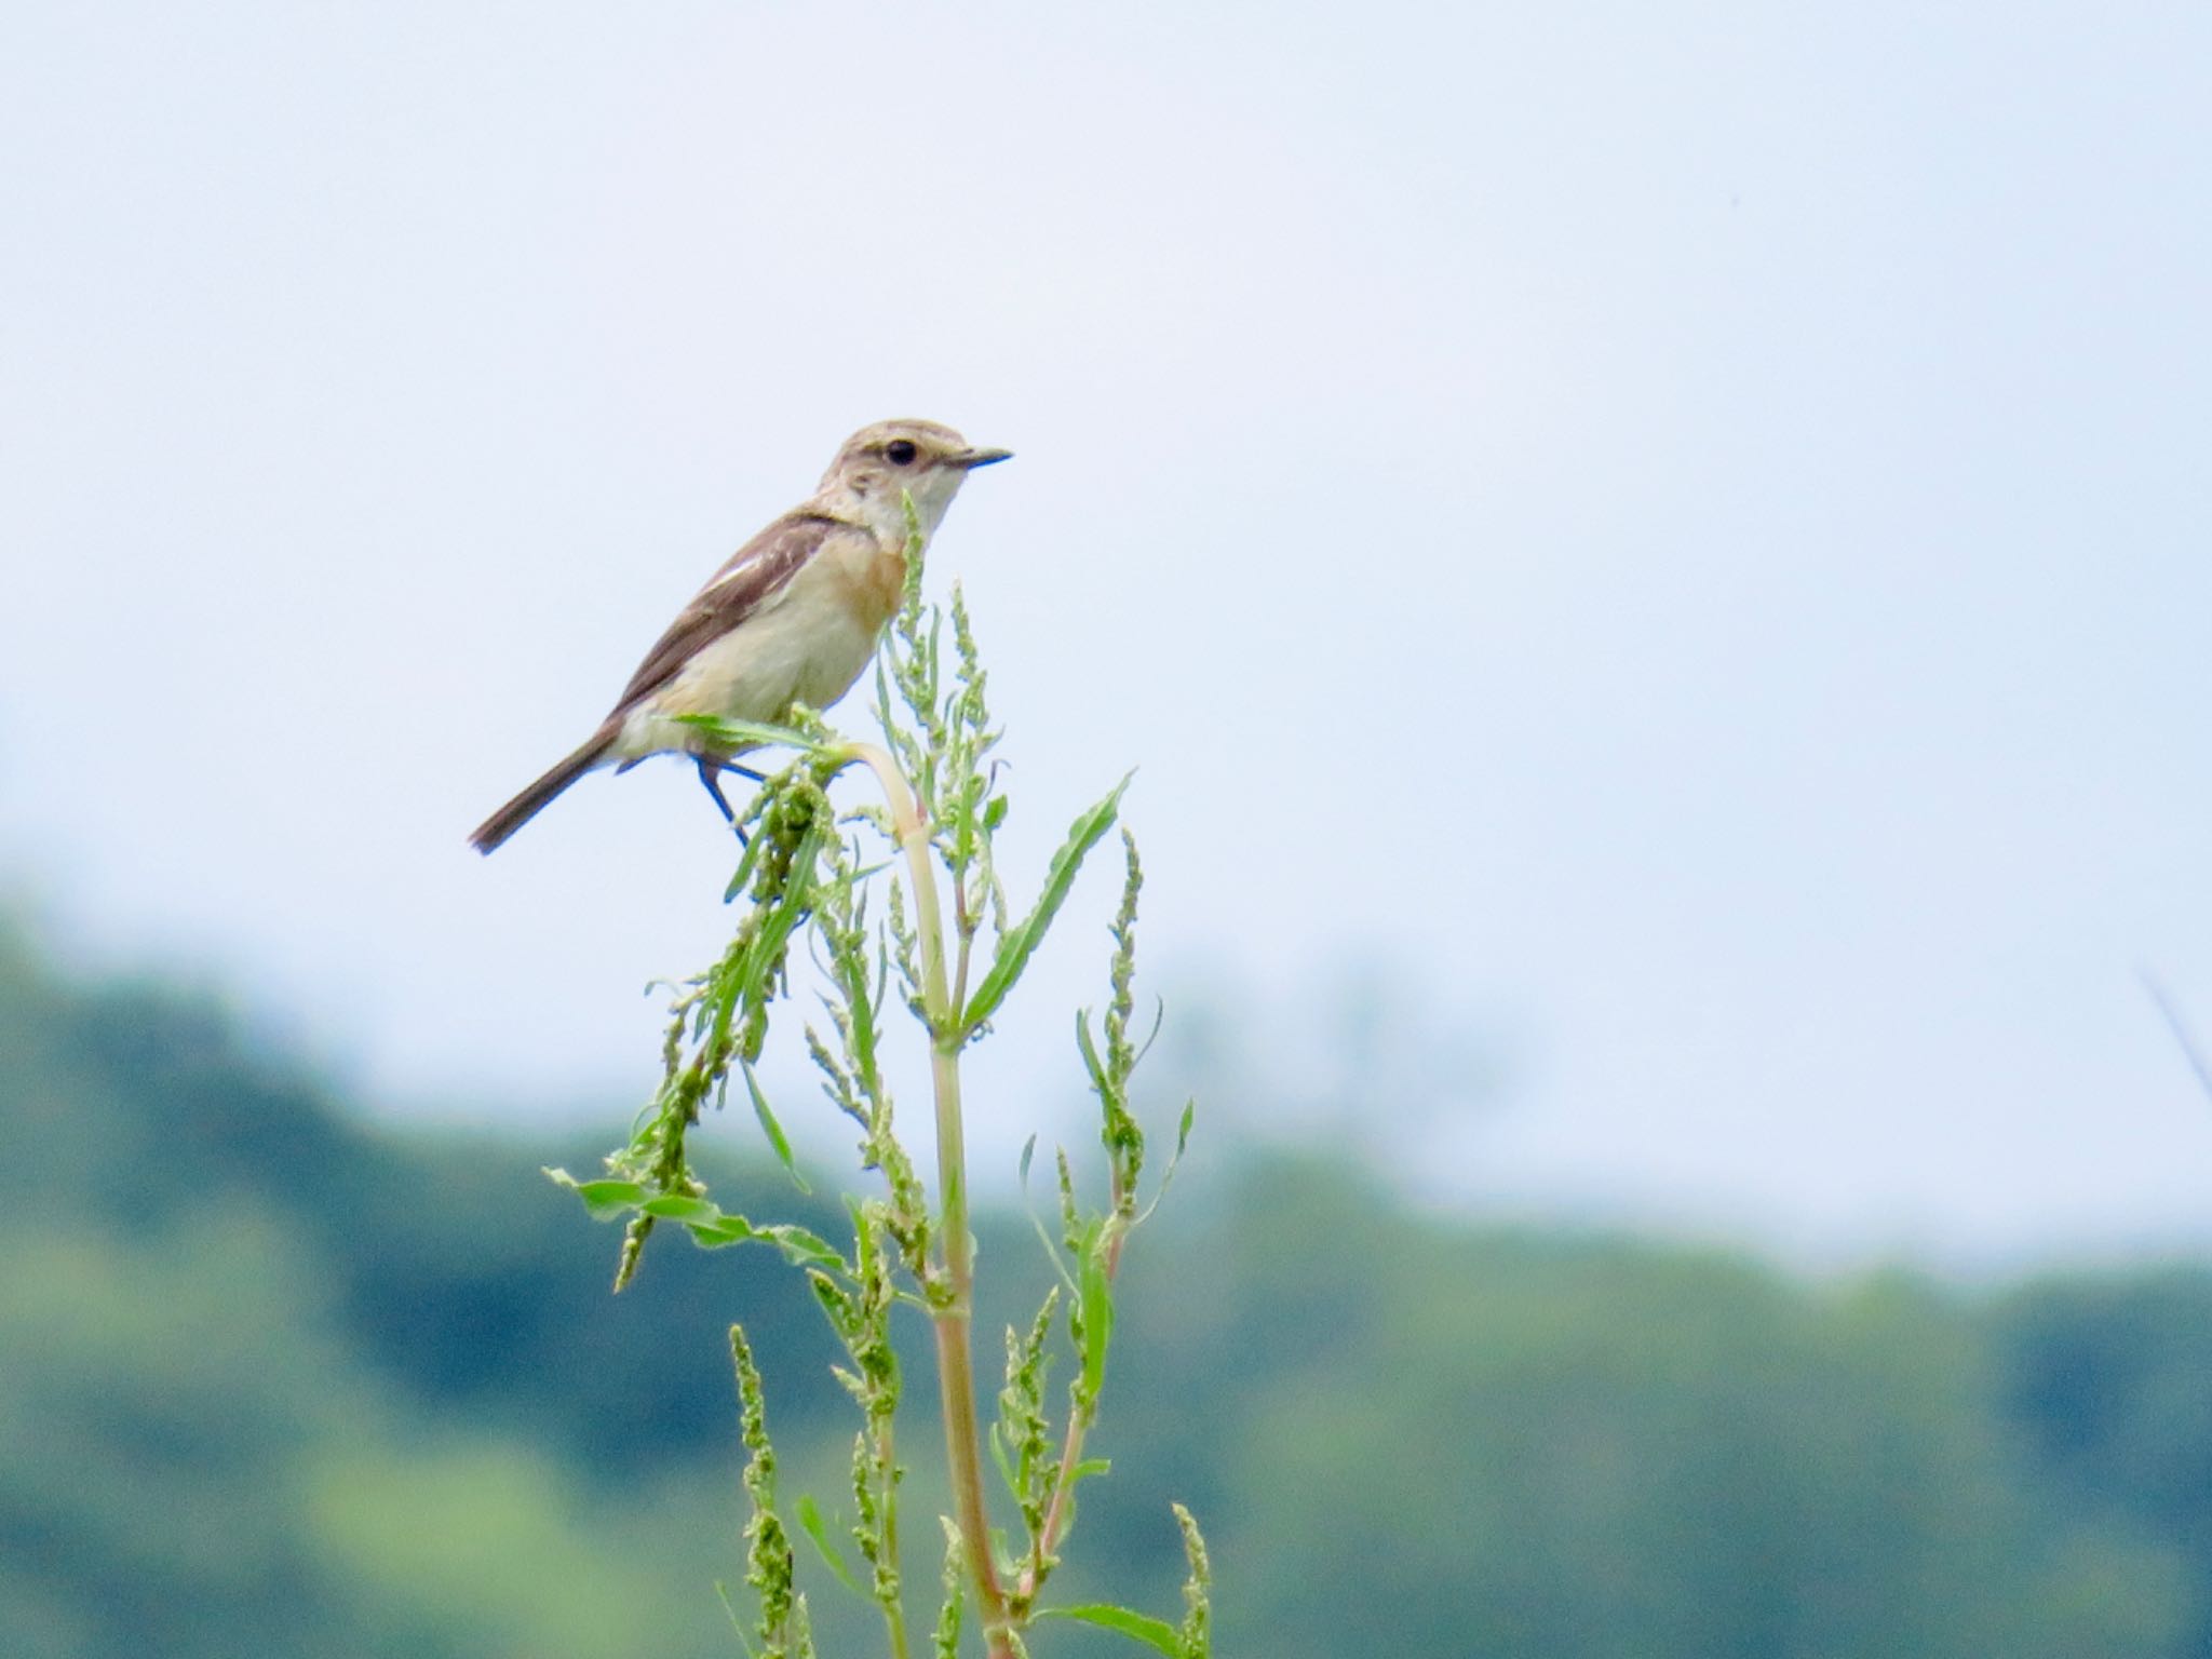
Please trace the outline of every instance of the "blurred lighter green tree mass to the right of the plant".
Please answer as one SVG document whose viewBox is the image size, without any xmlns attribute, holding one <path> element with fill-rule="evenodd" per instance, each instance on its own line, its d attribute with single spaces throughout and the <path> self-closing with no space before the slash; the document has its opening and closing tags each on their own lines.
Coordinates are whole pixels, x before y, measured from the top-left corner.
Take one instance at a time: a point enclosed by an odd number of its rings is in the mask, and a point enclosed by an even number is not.
<svg viewBox="0 0 2212 1659">
<path fill-rule="evenodd" d="M 1130 1305 L 1115 1484 L 1208 1471 L 1228 1650 L 2181 1652 L 2172 1544 L 2053 1509 L 1973 1310 L 1913 1279 L 1484 1237 L 1285 1166 Z M 1113 1486 L 1091 1524 L 1146 1548 Z"/>
</svg>

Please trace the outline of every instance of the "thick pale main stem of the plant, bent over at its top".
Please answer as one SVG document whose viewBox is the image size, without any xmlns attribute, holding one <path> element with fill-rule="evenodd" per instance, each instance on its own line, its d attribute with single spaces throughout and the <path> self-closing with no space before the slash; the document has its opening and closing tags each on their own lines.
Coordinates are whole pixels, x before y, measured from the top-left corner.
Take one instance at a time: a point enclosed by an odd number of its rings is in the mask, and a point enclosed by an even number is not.
<svg viewBox="0 0 2212 1659">
<path fill-rule="evenodd" d="M 975 1243 L 967 1223 L 967 1141 L 960 1121 L 960 1009 L 945 984 L 945 916 L 938 880 L 929 867 L 929 825 L 922 823 L 914 790 L 891 757 L 874 743 L 854 743 L 854 759 L 869 765 L 891 807 L 898 849 L 907 856 L 914 887 L 914 927 L 922 949 L 922 1006 L 929 1015 L 929 1075 L 938 1106 L 938 1203 L 945 1250 L 947 1296 L 931 1298 L 929 1318 L 938 1338 L 938 1389 L 945 1407 L 945 1460 L 953 1486 L 960 1540 L 967 1544 L 969 1577 L 991 1659 L 1011 1659 L 1006 1639 L 1006 1590 L 991 1559 L 991 1520 L 984 1509 L 982 1436 L 975 1427 Z"/>
</svg>

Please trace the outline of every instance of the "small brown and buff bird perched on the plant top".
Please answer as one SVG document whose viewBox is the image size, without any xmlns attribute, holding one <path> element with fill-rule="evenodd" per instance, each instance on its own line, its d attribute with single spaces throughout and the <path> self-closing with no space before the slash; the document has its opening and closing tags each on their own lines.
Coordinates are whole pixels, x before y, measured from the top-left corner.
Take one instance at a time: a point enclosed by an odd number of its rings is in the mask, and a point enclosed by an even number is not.
<svg viewBox="0 0 2212 1659">
<path fill-rule="evenodd" d="M 741 546 L 646 653 L 613 712 L 577 750 L 478 825 L 491 852 L 586 772 L 690 754 L 723 818 L 721 772 L 750 745 L 717 745 L 684 714 L 781 721 L 830 708 L 876 653 L 907 582 L 907 498 L 922 538 L 975 467 L 1006 460 L 933 420 L 878 420 L 836 451 L 821 487 Z"/>
</svg>

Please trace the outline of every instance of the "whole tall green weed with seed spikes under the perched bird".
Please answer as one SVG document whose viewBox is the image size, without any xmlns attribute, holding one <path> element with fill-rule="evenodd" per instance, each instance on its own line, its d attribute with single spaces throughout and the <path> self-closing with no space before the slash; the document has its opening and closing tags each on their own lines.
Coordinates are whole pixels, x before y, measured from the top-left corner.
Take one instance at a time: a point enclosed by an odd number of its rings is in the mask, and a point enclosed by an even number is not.
<svg viewBox="0 0 2212 1659">
<path fill-rule="evenodd" d="M 726 898 L 741 894 L 748 905 L 721 960 L 672 987 L 659 1091 L 639 1113 L 628 1144 L 606 1157 L 606 1175 L 588 1181 L 562 1170 L 549 1175 L 573 1190 L 595 1219 L 624 1219 L 615 1290 L 633 1281 L 646 1239 L 661 1221 L 684 1225 L 701 1245 L 772 1243 L 803 1267 L 814 1301 L 847 1356 L 847 1365 L 836 1367 L 836 1378 L 863 1418 L 852 1449 L 852 1540 L 869 1566 L 867 1593 L 883 1613 L 894 1659 L 905 1659 L 909 1644 L 898 1553 L 905 1469 L 896 1455 L 900 1374 L 891 1310 L 909 1301 L 929 1314 L 953 1498 L 951 1524 L 984 1641 L 993 1659 L 1011 1659 L 1024 1650 L 1022 1630 L 1037 1593 L 1060 1564 L 1060 1548 L 1075 1520 L 1075 1482 L 1102 1469 L 1079 1453 L 1097 1420 L 1106 1383 L 1115 1272 L 1128 1232 L 1139 1221 L 1135 1194 L 1144 1133 L 1128 1108 L 1128 1079 L 1137 1064 L 1128 1022 L 1141 872 L 1137 843 L 1124 830 L 1126 876 L 1113 925 L 1104 1053 L 1093 1042 L 1088 1015 L 1077 1018 L 1077 1046 L 1102 1104 L 1108 1201 L 1097 1214 L 1086 1214 L 1066 1155 L 1060 1157 L 1068 1261 L 1057 1263 L 1057 1270 L 1071 1292 L 1066 1336 L 1075 1352 L 1075 1383 L 1064 1431 L 1055 1436 L 1044 1398 L 1046 1347 L 1060 1307 L 1055 1290 L 1046 1294 L 1026 1338 L 1011 1329 L 1006 1334 L 1006 1387 L 991 1451 L 1022 1515 L 1022 1544 L 1002 1551 L 989 1522 L 975 1420 L 975 1290 L 960 1055 L 989 1031 L 1035 958 L 1084 858 L 1115 825 L 1128 776 L 1075 818 L 1046 865 L 1035 902 L 1011 918 L 995 856 L 1009 801 L 998 792 L 1000 768 L 991 761 L 1000 730 L 984 697 L 982 657 L 967 604 L 953 588 L 953 664 L 947 672 L 940 655 L 947 617 L 922 602 L 922 535 L 911 522 L 911 504 L 909 529 L 907 591 L 876 679 L 883 745 L 843 739 L 810 712 L 801 712 L 792 730 L 714 728 L 730 741 L 779 741 L 799 750 L 787 768 L 763 779 L 739 818 L 750 838 Z M 874 772 L 883 801 L 838 816 L 827 790 L 852 765 Z M 874 865 L 867 863 L 869 852 L 880 852 Z M 883 920 L 872 922 L 869 900 L 878 889 L 885 891 Z M 940 889 L 951 894 L 949 914 Z M 763 1225 L 723 1210 L 708 1197 L 708 1186 L 688 1157 L 690 1128 L 708 1102 L 723 1102 L 734 1068 L 774 1157 L 799 1190 L 807 1192 L 781 1119 L 752 1068 L 776 1004 L 790 995 L 792 945 L 801 938 L 810 942 L 818 964 L 816 995 L 830 1020 L 827 1035 L 818 1026 L 805 1026 L 805 1046 L 823 1075 L 830 1104 L 863 1133 L 863 1175 L 878 1177 L 878 1190 L 847 1199 L 854 1239 L 849 1256 L 796 1223 Z M 971 993 L 978 947 L 987 964 Z M 883 1075 L 878 1040 L 894 969 L 909 1013 L 929 1037 L 938 1152 L 933 1203 L 900 1141 Z M 1188 1130 L 1186 1108 L 1183 1135 Z M 741 1387 L 750 1389 L 748 1447 L 754 1444 L 754 1429 L 761 1433 L 748 1473 L 754 1500 L 750 1582 L 763 1597 L 763 1650 L 781 1657 L 796 1652 L 803 1641 L 805 1604 L 790 1601 L 790 1546 L 763 1495 L 772 1460 L 765 1429 L 759 1427 L 759 1376 L 743 1340 L 732 1340 L 739 1347 Z M 805 1531 L 814 1535 L 832 1571 L 849 1579 L 821 1528 Z M 770 1533 L 781 1551 L 774 1564 L 761 1557 Z M 787 1632 L 792 1608 L 801 1635 Z M 958 1608 L 947 1617 L 958 1617 Z"/>
</svg>

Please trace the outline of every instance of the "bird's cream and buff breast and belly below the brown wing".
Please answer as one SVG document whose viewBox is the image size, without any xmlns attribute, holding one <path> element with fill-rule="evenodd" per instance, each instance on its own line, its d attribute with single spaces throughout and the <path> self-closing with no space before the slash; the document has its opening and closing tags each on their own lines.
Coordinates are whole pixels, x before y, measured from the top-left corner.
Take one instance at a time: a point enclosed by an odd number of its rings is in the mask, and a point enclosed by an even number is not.
<svg viewBox="0 0 2212 1659">
<path fill-rule="evenodd" d="M 863 533 L 832 538 L 781 593 L 714 639 L 622 726 L 626 757 L 697 752 L 681 714 L 783 721 L 792 703 L 830 708 L 876 655 L 907 562 Z"/>
</svg>

